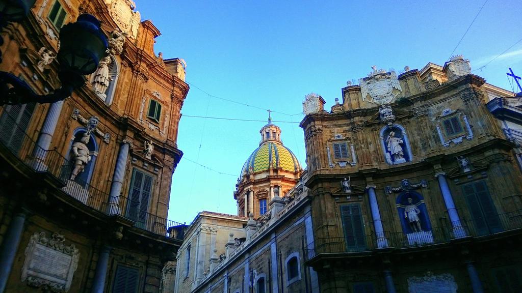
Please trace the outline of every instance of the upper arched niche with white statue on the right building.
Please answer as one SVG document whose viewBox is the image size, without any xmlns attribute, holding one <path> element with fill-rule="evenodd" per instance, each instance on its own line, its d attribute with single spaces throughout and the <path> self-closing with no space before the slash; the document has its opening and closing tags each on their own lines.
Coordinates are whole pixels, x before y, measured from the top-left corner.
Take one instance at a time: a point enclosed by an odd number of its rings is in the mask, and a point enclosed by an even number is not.
<svg viewBox="0 0 522 293">
<path fill-rule="evenodd" d="M 406 130 L 398 124 L 381 129 L 381 144 L 386 163 L 390 165 L 410 162 L 413 158 Z"/>
</svg>

